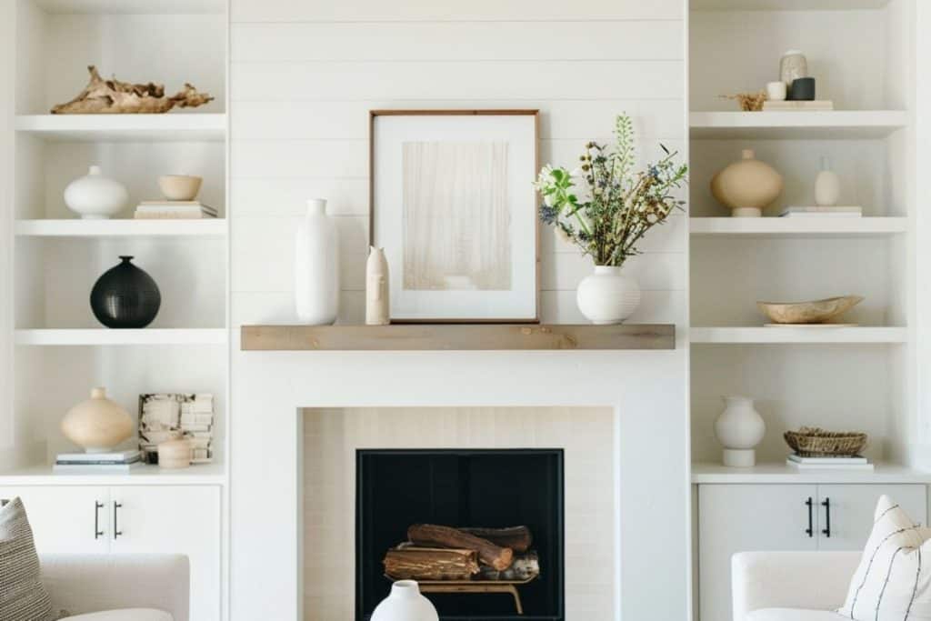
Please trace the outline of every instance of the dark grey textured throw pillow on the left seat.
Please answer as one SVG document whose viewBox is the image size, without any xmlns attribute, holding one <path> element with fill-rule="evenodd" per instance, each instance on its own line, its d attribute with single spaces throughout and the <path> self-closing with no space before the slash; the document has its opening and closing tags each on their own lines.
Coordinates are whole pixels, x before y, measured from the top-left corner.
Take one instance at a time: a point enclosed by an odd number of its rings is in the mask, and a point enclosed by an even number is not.
<svg viewBox="0 0 931 621">
<path fill-rule="evenodd" d="M 42 586 L 26 509 L 14 498 L 0 507 L 0 619 L 52 621 L 57 616 Z"/>
</svg>

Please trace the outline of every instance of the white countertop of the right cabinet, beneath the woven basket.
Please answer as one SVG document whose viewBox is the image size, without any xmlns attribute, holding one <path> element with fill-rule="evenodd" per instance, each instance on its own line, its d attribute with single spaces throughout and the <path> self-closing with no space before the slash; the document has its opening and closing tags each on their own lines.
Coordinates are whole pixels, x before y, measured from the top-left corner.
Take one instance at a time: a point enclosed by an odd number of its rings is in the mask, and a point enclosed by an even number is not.
<svg viewBox="0 0 931 621">
<path fill-rule="evenodd" d="M 720 464 L 693 464 L 692 482 L 714 483 L 929 483 L 931 472 L 894 464 L 875 464 L 869 470 L 801 470 L 781 464 L 733 468 Z"/>
</svg>

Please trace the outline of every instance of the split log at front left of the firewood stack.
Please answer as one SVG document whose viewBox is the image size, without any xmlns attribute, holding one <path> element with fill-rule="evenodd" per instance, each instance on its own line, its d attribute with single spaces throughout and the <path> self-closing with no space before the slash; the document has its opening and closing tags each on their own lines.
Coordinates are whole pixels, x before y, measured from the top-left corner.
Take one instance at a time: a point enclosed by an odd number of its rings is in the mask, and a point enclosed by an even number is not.
<svg viewBox="0 0 931 621">
<path fill-rule="evenodd" d="M 399 546 L 383 562 L 385 575 L 395 580 L 470 580 L 479 573 L 475 550 Z"/>
</svg>

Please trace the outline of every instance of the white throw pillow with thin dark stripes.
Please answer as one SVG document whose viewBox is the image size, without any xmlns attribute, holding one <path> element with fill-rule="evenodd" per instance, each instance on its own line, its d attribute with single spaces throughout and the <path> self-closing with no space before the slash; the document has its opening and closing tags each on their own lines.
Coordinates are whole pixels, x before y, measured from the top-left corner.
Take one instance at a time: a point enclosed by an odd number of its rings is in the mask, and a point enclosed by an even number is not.
<svg viewBox="0 0 931 621">
<path fill-rule="evenodd" d="M 931 529 L 882 496 L 872 533 L 837 611 L 857 621 L 931 621 Z"/>
</svg>

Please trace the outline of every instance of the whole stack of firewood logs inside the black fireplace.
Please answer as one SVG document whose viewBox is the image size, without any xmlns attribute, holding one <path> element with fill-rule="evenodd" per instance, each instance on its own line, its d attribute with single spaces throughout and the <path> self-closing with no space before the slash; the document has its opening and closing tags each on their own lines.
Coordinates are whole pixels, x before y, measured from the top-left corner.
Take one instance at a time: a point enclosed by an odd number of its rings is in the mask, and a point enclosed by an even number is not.
<svg viewBox="0 0 931 621">
<path fill-rule="evenodd" d="M 526 526 L 413 524 L 408 541 L 385 554 L 385 574 L 396 580 L 528 580 L 540 573 L 532 542 Z"/>
</svg>

